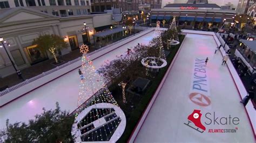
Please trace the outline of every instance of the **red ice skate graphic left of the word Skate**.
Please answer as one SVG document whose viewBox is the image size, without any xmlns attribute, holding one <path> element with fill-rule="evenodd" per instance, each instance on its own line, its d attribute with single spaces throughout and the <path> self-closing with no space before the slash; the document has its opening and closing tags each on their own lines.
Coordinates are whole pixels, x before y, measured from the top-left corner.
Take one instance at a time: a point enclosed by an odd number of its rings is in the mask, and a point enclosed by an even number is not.
<svg viewBox="0 0 256 143">
<path fill-rule="evenodd" d="M 202 116 L 202 114 L 200 113 L 200 110 L 194 110 L 193 113 L 187 117 L 188 123 L 187 124 L 184 123 L 184 124 L 193 128 L 194 130 L 196 130 L 200 133 L 203 133 L 206 130 L 206 128 L 201 123 L 201 116 Z M 193 125 L 190 124 L 192 122 L 196 127 L 194 127 Z"/>
</svg>

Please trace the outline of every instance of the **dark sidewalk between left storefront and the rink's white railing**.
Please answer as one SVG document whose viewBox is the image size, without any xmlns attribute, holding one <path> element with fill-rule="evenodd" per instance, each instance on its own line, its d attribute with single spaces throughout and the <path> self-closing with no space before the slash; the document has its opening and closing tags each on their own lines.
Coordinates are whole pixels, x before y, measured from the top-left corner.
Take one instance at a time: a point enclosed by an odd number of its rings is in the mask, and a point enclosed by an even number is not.
<svg viewBox="0 0 256 143">
<path fill-rule="evenodd" d="M 92 51 L 94 51 L 94 49 Z M 65 54 L 60 58 L 58 57 L 58 60 L 64 61 L 63 63 L 60 64 L 60 65 L 63 65 L 64 63 L 66 63 L 68 61 L 72 61 L 72 60 L 78 58 L 79 56 L 82 56 L 82 54 L 79 53 L 79 49 L 75 49 L 75 51 Z M 45 71 L 55 68 L 56 66 L 51 65 L 51 62 L 53 62 L 53 61 L 54 61 L 54 59 L 49 59 L 49 60 L 37 63 L 36 65 L 32 65 L 31 67 L 22 69 L 21 70 L 22 77 L 24 78 L 24 80 L 26 80 L 31 77 L 37 76 L 39 74 L 42 74 Z M 21 83 L 21 82 L 22 82 L 22 80 L 18 78 L 17 74 L 12 74 L 12 75 L 6 76 L 4 78 L 0 78 L 0 88 L 5 87 L 6 85 L 8 87 L 11 87 L 11 86 Z M 4 90 L 4 89 L 2 89 L 2 90 Z"/>
</svg>

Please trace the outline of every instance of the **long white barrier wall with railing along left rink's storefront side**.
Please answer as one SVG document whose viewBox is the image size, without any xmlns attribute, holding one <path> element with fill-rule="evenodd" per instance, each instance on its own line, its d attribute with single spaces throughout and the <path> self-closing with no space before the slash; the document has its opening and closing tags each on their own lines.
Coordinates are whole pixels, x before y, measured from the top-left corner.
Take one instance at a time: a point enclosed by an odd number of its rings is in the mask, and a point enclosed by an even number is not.
<svg viewBox="0 0 256 143">
<path fill-rule="evenodd" d="M 137 39 L 138 37 L 141 37 L 144 34 L 147 34 L 151 31 L 153 31 L 154 28 L 149 28 L 148 30 L 139 32 L 135 34 L 134 36 L 126 37 L 122 40 L 119 40 L 117 42 L 114 42 L 110 45 L 107 45 L 103 48 L 97 49 L 96 51 L 93 51 L 89 53 L 91 60 L 94 60 L 98 58 L 99 56 L 102 56 L 103 54 L 112 51 L 113 49 L 116 49 L 127 42 L 130 42 L 131 40 Z M 18 98 L 29 91 L 32 91 L 33 89 L 36 89 L 43 84 L 46 84 L 55 78 L 58 78 L 59 76 L 62 76 L 63 74 L 68 73 L 69 71 L 76 69 L 81 66 L 80 62 L 81 58 L 77 58 L 75 60 L 69 61 L 67 63 L 64 63 L 61 66 L 58 66 L 54 69 L 51 69 L 49 71 L 46 71 L 42 74 L 39 74 L 35 77 L 29 78 L 28 80 L 25 80 L 24 82 L 21 82 L 19 84 L 16 84 L 10 88 L 7 88 L 0 92 L 0 107 L 11 102 L 15 98 Z"/>
</svg>

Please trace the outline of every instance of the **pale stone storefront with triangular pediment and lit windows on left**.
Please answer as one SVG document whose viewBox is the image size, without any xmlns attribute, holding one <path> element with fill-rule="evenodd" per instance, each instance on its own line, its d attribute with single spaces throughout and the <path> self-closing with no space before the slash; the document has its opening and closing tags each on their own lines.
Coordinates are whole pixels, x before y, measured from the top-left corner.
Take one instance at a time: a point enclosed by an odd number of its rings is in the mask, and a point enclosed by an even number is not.
<svg viewBox="0 0 256 143">
<path fill-rule="evenodd" d="M 84 31 L 83 23 L 88 30 Z M 79 17 L 57 17 L 48 13 L 29 8 L 14 8 L 0 15 L 0 37 L 10 46 L 8 54 L 18 70 L 24 69 L 38 62 L 52 59 L 48 52 L 42 53 L 32 45 L 33 39 L 43 34 L 56 34 L 63 37 L 69 47 L 63 49 L 62 55 L 79 48 L 88 41 L 93 44 L 93 34 L 97 28 L 112 24 L 112 13 L 98 15 L 84 15 Z M 88 39 L 89 35 L 89 39 Z M 0 45 L 0 77 L 15 73 L 4 48 Z"/>
</svg>

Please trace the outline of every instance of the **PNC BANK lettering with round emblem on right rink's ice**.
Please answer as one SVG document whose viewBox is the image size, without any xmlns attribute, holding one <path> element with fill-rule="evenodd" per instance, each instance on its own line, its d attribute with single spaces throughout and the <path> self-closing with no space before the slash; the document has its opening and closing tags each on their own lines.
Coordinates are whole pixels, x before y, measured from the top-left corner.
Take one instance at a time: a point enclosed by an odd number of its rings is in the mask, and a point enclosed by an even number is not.
<svg viewBox="0 0 256 143">
<path fill-rule="evenodd" d="M 194 104 L 209 106 L 211 104 L 210 96 L 210 84 L 205 59 L 196 58 L 194 60 L 189 98 Z"/>
</svg>

